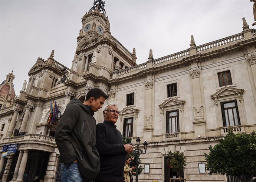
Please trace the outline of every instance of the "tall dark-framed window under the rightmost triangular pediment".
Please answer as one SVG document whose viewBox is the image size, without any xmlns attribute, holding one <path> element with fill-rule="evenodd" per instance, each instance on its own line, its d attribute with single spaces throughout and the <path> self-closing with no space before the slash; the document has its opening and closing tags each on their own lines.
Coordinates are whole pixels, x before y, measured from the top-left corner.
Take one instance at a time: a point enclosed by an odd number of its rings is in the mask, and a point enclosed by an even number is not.
<svg viewBox="0 0 256 182">
<path fill-rule="evenodd" d="M 232 102 L 221 102 L 221 113 L 224 127 L 240 125 L 236 100 Z"/>
</svg>

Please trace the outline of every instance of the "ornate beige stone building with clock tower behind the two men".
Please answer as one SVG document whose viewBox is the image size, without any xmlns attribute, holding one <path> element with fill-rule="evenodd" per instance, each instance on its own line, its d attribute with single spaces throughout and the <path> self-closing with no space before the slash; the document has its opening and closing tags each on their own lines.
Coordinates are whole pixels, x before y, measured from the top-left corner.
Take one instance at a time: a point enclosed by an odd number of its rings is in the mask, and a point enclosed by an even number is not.
<svg viewBox="0 0 256 182">
<path fill-rule="evenodd" d="M 242 25 L 242 23 L 241 23 Z M 15 155 L 1 157 L 1 180 L 60 181 L 55 127 L 73 97 L 83 101 L 88 90 L 108 93 L 106 103 L 117 103 L 117 128 L 124 136 L 149 143 L 141 155 L 150 165 L 139 181 L 167 182 L 177 174 L 167 162 L 168 151 L 187 157 L 181 175 L 191 181 L 229 181 L 227 176 L 199 172 L 204 152 L 217 138 L 234 131 L 256 130 L 256 36 L 243 18 L 241 32 L 196 46 L 191 36 L 184 51 L 153 58 L 137 65 L 135 49 L 129 52 L 110 31 L 104 2 L 95 0 L 82 17 L 72 68 L 54 59 L 38 58 L 29 70 L 19 97 L 14 98 L 13 73 L 0 85 L 0 147 L 17 144 Z M 167 53 L 168 54 L 168 53 Z M 59 114 L 49 123 L 50 103 Z M 95 114 L 103 121 L 102 111 Z"/>
</svg>

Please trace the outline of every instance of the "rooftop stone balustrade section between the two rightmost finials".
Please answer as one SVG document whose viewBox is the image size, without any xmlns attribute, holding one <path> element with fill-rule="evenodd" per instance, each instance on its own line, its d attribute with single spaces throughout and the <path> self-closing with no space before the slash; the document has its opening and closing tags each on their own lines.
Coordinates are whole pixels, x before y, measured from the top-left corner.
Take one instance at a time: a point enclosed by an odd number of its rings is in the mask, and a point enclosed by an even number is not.
<svg viewBox="0 0 256 182">
<path fill-rule="evenodd" d="M 232 42 L 237 42 L 243 39 L 244 39 L 243 33 L 235 34 L 230 37 L 222 38 L 213 42 L 209 42 L 207 44 L 199 45 L 197 46 L 197 52 L 203 52 L 216 47 L 221 47 L 223 45 L 230 44 Z"/>
</svg>

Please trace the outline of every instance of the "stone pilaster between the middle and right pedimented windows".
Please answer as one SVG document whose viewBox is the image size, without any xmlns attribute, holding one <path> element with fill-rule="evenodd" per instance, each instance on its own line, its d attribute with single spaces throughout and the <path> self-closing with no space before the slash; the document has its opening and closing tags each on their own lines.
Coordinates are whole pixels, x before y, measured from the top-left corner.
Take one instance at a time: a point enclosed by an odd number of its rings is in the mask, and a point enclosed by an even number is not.
<svg viewBox="0 0 256 182">
<path fill-rule="evenodd" d="M 206 136 L 206 121 L 203 117 L 203 101 L 201 93 L 201 85 L 199 80 L 200 70 L 193 68 L 189 71 L 192 79 L 192 93 L 193 93 L 193 109 L 194 109 L 194 134 L 195 137 Z"/>
</svg>

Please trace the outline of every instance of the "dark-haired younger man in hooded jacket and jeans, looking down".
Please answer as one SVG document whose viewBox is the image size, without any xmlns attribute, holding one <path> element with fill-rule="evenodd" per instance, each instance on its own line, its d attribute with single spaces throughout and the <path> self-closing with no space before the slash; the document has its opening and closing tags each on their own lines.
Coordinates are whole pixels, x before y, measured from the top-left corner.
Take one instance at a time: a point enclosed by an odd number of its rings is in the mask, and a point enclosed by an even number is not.
<svg viewBox="0 0 256 182">
<path fill-rule="evenodd" d="M 91 182 L 100 169 L 96 150 L 94 112 L 102 108 L 108 96 L 91 89 L 85 102 L 74 98 L 66 107 L 55 132 L 55 141 L 63 162 L 62 182 Z"/>
</svg>

